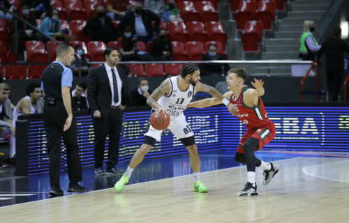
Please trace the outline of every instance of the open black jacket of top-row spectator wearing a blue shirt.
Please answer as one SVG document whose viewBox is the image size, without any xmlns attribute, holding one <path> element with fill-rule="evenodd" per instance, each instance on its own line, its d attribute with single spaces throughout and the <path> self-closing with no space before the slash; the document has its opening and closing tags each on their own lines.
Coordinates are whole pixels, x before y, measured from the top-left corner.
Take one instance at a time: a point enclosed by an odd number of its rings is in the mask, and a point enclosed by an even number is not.
<svg viewBox="0 0 349 223">
<path fill-rule="evenodd" d="M 160 26 L 160 17 L 152 13 L 150 10 L 143 10 L 142 12 L 142 21 L 147 30 L 148 36 L 153 36 L 153 32 L 158 31 L 158 26 Z M 151 21 L 154 21 L 154 28 L 151 25 Z M 131 26 L 131 30 L 133 35 L 135 34 L 135 13 L 126 13 L 124 20 L 121 20 L 119 26 L 117 28 L 121 31 L 124 31 L 126 26 Z"/>
</svg>

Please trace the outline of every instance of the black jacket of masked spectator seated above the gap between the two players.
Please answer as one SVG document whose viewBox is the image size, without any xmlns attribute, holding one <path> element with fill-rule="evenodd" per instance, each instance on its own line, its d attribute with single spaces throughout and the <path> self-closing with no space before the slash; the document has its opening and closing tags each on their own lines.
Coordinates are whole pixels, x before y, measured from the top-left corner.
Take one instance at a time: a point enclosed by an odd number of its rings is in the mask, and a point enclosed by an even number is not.
<svg viewBox="0 0 349 223">
<path fill-rule="evenodd" d="M 202 56 L 202 61 L 226 61 L 225 56 L 217 54 L 216 58 L 212 59 L 209 54 Z M 224 66 L 224 75 L 230 70 L 228 63 L 200 63 L 200 74 L 201 75 L 221 75 L 222 66 Z"/>
</svg>

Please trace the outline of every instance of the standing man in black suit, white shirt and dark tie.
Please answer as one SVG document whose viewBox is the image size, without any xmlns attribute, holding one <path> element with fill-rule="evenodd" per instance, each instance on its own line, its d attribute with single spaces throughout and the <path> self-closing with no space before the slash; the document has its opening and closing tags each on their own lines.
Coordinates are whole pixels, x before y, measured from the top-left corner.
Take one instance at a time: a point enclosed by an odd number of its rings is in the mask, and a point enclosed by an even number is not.
<svg viewBox="0 0 349 223">
<path fill-rule="evenodd" d="M 87 100 L 94 121 L 94 166 L 97 175 L 119 175 L 117 165 L 119 157 L 119 139 L 124 108 L 131 102 L 128 95 L 126 75 L 117 67 L 119 52 L 115 47 L 104 51 L 105 63 L 91 69 L 87 84 Z M 105 139 L 109 134 L 108 162 L 103 170 Z"/>
</svg>

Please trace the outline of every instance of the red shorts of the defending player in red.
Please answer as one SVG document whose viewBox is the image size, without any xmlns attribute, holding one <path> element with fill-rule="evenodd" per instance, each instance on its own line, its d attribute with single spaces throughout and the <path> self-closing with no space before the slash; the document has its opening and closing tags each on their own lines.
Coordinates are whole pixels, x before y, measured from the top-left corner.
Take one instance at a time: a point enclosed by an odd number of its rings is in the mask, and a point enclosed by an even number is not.
<svg viewBox="0 0 349 223">
<path fill-rule="evenodd" d="M 258 150 L 259 151 L 262 147 L 265 145 L 269 144 L 274 137 L 275 137 L 275 127 L 273 128 L 272 126 L 268 127 L 263 127 L 263 128 L 258 128 L 254 130 L 247 130 L 245 132 L 244 136 L 240 140 L 239 146 L 237 146 L 237 153 L 244 153 L 244 143 L 247 139 L 250 137 L 253 137 L 255 139 L 260 139 L 259 144 L 258 144 Z"/>
</svg>

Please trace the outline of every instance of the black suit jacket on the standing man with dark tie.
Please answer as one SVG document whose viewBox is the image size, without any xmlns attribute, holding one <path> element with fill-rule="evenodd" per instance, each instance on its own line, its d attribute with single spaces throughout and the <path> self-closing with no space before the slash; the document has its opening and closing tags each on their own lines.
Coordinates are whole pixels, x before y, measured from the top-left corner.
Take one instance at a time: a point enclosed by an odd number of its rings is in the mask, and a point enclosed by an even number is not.
<svg viewBox="0 0 349 223">
<path fill-rule="evenodd" d="M 122 68 L 116 68 L 122 82 L 121 104 L 128 106 L 131 99 L 128 94 L 126 76 Z M 104 63 L 91 69 L 87 83 L 87 100 L 89 100 L 89 109 L 92 113 L 98 110 L 101 112 L 102 118 L 107 117 L 112 105 L 112 89 Z"/>
</svg>

